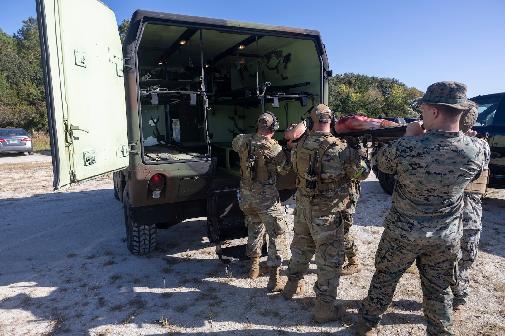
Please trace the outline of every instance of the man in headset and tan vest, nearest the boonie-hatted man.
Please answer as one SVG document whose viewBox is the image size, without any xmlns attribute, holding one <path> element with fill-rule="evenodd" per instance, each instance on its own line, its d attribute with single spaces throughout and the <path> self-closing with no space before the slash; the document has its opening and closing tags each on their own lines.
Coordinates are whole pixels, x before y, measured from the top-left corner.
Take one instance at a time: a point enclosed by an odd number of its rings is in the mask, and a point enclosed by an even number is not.
<svg viewBox="0 0 505 336">
<path fill-rule="evenodd" d="M 309 115 L 311 131 L 291 154 L 297 173 L 294 237 L 286 270 L 288 282 L 281 295 L 290 299 L 304 292 L 305 285 L 299 280 L 304 279 L 315 255 L 314 320 L 323 323 L 345 315 L 345 307 L 335 305 L 335 300 L 344 261 L 341 211 L 350 206 L 346 178 L 367 178 L 370 160 L 330 134 L 335 119 L 328 106 L 317 104 Z"/>
</svg>

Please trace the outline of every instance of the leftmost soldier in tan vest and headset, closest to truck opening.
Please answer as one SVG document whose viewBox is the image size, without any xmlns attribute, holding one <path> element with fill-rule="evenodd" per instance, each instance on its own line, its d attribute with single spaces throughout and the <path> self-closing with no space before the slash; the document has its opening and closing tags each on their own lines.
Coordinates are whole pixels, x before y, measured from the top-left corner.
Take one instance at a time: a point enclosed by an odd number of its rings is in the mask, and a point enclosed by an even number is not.
<svg viewBox="0 0 505 336">
<path fill-rule="evenodd" d="M 256 121 L 256 133 L 240 134 L 233 139 L 233 150 L 240 157 L 240 209 L 249 231 L 246 255 L 251 259 L 249 278 L 270 273 L 269 291 L 281 291 L 285 282 L 279 277 L 286 244 L 286 213 L 275 187 L 276 172 L 285 175 L 291 169 L 291 156 L 276 140 L 271 139 L 279 128 L 271 112 L 262 113 Z M 288 148 L 291 147 L 288 144 Z M 268 232 L 269 267 L 260 267 L 260 256 Z"/>
</svg>

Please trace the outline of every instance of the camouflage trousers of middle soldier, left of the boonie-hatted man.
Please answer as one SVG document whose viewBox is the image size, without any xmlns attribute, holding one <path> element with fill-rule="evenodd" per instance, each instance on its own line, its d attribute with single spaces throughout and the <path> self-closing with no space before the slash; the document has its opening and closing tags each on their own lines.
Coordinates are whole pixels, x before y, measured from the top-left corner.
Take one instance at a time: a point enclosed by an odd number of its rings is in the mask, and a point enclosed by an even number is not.
<svg viewBox="0 0 505 336">
<path fill-rule="evenodd" d="M 322 214 L 296 207 L 293 215 L 294 237 L 286 276 L 289 279 L 304 279 L 315 255 L 317 281 L 314 292 L 321 301 L 333 304 L 344 261 L 341 214 Z"/>
</svg>

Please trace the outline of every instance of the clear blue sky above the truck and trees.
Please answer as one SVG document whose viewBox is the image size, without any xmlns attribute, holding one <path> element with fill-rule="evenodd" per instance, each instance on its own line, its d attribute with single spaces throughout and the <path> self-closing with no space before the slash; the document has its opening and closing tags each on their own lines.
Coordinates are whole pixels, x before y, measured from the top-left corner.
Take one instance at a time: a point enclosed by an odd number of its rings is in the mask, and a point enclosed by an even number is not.
<svg viewBox="0 0 505 336">
<path fill-rule="evenodd" d="M 394 77 L 422 91 L 459 81 L 469 97 L 505 91 L 503 0 L 103 2 L 118 22 L 143 9 L 318 30 L 334 74 Z M 35 0 L 0 1 L 4 32 L 30 16 Z"/>
</svg>

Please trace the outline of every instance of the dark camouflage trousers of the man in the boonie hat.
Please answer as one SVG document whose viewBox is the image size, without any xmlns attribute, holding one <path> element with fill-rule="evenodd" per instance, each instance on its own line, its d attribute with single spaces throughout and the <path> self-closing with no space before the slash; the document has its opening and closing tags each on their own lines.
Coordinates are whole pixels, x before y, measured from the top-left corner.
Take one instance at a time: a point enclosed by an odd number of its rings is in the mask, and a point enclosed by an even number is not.
<svg viewBox="0 0 505 336">
<path fill-rule="evenodd" d="M 360 322 L 376 327 L 393 299 L 403 273 L 416 260 L 423 289 L 426 335 L 454 335 L 452 331 L 452 293 L 458 283 L 460 242 L 450 245 L 421 245 L 399 240 L 388 231 L 382 234 L 375 253 L 375 274 L 368 296 L 358 311 Z"/>
</svg>

